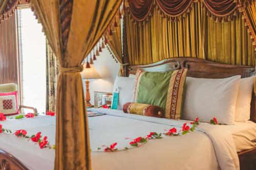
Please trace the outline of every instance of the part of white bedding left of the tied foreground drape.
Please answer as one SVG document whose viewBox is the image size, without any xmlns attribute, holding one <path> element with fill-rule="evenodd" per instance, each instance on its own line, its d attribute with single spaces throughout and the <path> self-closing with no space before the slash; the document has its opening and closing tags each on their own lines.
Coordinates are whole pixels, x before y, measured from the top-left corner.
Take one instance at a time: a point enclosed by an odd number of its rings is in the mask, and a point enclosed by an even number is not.
<svg viewBox="0 0 256 170">
<path fill-rule="evenodd" d="M 55 143 L 55 126 L 56 117 L 53 116 L 38 116 L 34 118 L 23 119 L 6 119 L 4 122 L 0 122 L 3 128 L 11 130 L 13 133 L 15 130 L 24 129 L 31 136 L 37 132 L 41 132 L 41 135 L 48 136 L 51 144 Z M 27 138 L 17 138 L 14 135 L 0 134 L 0 149 L 10 153 L 22 162 L 29 169 L 53 169 L 55 150 L 53 149 L 40 149 L 38 144 L 36 145 L 32 141 L 28 141 Z"/>
</svg>

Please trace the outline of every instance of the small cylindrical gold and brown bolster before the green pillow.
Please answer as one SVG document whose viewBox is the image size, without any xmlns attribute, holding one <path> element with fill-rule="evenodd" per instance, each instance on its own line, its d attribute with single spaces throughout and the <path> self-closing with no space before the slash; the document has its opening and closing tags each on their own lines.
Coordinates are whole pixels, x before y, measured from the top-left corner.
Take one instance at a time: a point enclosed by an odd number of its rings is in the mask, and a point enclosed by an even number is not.
<svg viewBox="0 0 256 170">
<path fill-rule="evenodd" d="M 144 116 L 161 117 L 162 109 L 159 106 L 128 102 L 123 105 L 124 113 L 139 114 Z"/>
</svg>

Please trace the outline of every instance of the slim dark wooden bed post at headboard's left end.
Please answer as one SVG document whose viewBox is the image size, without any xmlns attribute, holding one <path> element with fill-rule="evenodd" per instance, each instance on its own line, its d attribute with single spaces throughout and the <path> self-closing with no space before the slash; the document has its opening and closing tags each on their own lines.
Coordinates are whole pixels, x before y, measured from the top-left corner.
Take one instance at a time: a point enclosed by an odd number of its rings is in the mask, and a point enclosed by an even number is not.
<svg viewBox="0 0 256 170">
<path fill-rule="evenodd" d="M 123 57 L 122 57 L 122 62 L 123 63 L 129 63 L 129 58 L 128 58 L 128 52 L 127 52 L 127 32 L 126 32 L 126 14 L 124 12 L 123 15 Z M 124 76 L 128 77 L 129 76 L 129 71 L 128 71 L 128 66 L 129 65 L 123 65 L 123 70 L 124 70 Z"/>
</svg>

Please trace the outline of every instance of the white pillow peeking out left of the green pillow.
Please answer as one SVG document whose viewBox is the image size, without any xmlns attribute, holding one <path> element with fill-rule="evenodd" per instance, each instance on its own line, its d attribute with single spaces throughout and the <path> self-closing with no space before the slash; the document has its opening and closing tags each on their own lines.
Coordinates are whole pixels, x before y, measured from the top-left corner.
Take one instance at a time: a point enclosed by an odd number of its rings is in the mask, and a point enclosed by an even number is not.
<svg viewBox="0 0 256 170">
<path fill-rule="evenodd" d="M 113 92 L 119 88 L 119 98 L 117 109 L 122 110 L 123 105 L 127 102 L 133 102 L 133 91 L 135 86 L 135 78 L 116 77 Z"/>
</svg>

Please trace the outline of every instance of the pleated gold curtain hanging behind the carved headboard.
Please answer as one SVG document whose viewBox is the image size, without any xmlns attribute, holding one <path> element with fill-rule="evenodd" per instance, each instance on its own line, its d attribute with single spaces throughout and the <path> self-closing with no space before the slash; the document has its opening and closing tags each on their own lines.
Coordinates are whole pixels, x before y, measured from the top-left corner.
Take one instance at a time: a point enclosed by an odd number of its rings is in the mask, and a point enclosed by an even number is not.
<svg viewBox="0 0 256 170">
<path fill-rule="evenodd" d="M 177 22 L 153 8 L 145 22 L 134 22 L 126 11 L 127 51 L 130 65 L 158 62 L 170 57 L 198 57 L 227 64 L 255 65 L 252 40 L 242 15 L 216 22 L 200 3 Z"/>
</svg>

